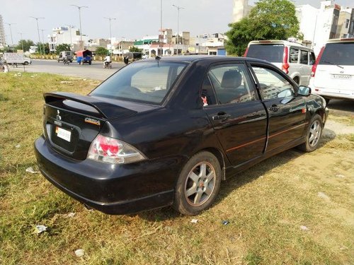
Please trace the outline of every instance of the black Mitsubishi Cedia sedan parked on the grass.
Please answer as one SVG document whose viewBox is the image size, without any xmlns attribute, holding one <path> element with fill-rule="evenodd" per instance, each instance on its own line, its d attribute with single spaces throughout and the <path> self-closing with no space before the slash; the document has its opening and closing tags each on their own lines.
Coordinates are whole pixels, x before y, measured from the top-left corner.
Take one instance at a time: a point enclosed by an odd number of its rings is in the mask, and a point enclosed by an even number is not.
<svg viewBox="0 0 354 265">
<path fill-rule="evenodd" d="M 314 151 L 328 114 L 276 66 L 238 57 L 137 61 L 89 95 L 44 98 L 40 172 L 110 214 L 198 214 L 227 177 L 295 146 Z"/>
</svg>

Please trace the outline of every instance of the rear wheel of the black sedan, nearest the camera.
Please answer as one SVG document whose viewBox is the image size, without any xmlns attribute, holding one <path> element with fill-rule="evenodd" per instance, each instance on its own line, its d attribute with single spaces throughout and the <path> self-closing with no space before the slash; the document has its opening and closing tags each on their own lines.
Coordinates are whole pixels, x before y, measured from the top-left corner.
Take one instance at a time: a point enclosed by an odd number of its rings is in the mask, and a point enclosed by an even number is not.
<svg viewBox="0 0 354 265">
<path fill-rule="evenodd" d="M 182 214 L 195 216 L 215 200 L 221 182 L 219 161 L 210 152 L 193 155 L 184 165 L 175 188 L 173 208 Z"/>
</svg>

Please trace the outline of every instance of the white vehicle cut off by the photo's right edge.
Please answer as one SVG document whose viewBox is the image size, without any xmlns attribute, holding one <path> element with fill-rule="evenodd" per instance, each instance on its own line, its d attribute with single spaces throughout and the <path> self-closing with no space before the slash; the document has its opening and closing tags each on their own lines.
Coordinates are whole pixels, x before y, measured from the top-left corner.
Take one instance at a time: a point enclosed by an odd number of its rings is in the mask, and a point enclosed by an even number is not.
<svg viewBox="0 0 354 265">
<path fill-rule="evenodd" d="M 354 38 L 329 40 L 312 66 L 309 86 L 313 93 L 354 100 Z"/>
</svg>

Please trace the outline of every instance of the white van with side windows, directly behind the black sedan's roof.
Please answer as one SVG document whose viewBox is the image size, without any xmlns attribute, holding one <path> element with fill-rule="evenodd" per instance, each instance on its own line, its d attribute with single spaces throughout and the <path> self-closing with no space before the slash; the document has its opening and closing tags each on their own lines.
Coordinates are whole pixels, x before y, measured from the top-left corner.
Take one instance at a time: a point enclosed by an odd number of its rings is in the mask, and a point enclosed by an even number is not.
<svg viewBox="0 0 354 265">
<path fill-rule="evenodd" d="M 308 86 L 312 65 L 316 61 L 312 49 L 286 40 L 253 40 L 244 56 L 269 61 L 301 86 Z"/>
</svg>

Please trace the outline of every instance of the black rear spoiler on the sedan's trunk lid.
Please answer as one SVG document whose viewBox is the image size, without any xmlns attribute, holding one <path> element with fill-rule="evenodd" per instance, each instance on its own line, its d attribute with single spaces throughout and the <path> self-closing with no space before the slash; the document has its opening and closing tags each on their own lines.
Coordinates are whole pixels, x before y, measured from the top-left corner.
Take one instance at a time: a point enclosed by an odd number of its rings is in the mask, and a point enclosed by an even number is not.
<svg viewBox="0 0 354 265">
<path fill-rule="evenodd" d="M 125 107 L 120 107 L 119 105 L 89 95 L 78 95 L 74 93 L 65 92 L 52 92 L 44 93 L 43 97 L 45 98 L 46 103 L 62 100 L 72 100 L 85 105 L 89 105 L 95 110 L 97 110 L 97 112 L 101 114 L 102 117 L 105 119 L 113 119 L 115 117 L 122 117 L 137 113 L 134 110 L 129 110 Z"/>
</svg>

